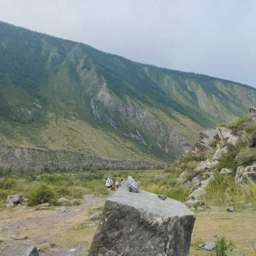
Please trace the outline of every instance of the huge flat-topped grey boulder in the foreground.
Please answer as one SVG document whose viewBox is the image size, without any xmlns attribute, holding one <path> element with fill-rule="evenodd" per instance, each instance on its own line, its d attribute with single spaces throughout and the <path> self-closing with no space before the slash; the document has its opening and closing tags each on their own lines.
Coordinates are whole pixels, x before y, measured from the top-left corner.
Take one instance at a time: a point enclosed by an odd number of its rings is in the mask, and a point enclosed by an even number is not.
<svg viewBox="0 0 256 256">
<path fill-rule="evenodd" d="M 89 255 L 188 255 L 194 213 L 173 199 L 131 193 L 125 184 L 106 199 Z"/>
</svg>

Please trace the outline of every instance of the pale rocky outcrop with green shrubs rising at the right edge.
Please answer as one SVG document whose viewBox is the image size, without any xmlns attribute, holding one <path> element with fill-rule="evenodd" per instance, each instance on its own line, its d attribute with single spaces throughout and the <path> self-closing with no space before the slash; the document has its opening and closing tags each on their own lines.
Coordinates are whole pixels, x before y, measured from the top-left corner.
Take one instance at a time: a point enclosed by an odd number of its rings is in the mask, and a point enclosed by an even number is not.
<svg viewBox="0 0 256 256">
<path fill-rule="evenodd" d="M 256 184 L 256 114 L 252 110 L 250 113 L 234 123 L 225 124 L 227 127 L 217 126 L 216 130 L 200 133 L 199 142 L 189 154 L 194 159 L 207 155 L 208 159 L 197 161 L 196 165 L 194 161 L 194 169 L 185 168 L 179 177 L 179 181 L 190 189 L 190 198 L 203 199 L 215 173 L 236 173 L 236 182 Z M 189 205 L 195 203 L 190 201 Z"/>
</svg>

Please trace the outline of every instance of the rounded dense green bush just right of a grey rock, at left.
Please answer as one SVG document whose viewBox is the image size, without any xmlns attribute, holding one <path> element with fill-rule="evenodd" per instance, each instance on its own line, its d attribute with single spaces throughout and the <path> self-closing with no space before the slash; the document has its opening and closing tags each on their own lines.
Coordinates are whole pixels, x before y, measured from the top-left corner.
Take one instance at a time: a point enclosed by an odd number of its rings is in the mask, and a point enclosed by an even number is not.
<svg viewBox="0 0 256 256">
<path fill-rule="evenodd" d="M 51 187 L 45 183 L 41 183 L 30 190 L 29 205 L 38 205 L 44 203 L 53 203 L 54 194 Z"/>
</svg>

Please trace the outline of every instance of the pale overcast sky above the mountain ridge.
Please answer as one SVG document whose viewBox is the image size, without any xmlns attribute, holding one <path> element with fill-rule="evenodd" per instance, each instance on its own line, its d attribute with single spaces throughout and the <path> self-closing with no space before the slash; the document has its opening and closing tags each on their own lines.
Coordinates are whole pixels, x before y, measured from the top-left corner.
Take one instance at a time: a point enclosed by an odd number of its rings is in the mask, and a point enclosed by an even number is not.
<svg viewBox="0 0 256 256">
<path fill-rule="evenodd" d="M 0 19 L 256 87 L 255 0 L 0 0 Z"/>
</svg>

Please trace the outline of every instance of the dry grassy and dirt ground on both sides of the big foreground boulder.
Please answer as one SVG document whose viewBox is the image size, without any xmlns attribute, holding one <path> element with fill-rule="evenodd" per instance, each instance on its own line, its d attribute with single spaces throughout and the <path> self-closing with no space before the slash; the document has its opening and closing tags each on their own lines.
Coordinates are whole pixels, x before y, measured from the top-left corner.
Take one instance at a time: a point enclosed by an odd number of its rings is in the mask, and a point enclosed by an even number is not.
<svg viewBox="0 0 256 256">
<path fill-rule="evenodd" d="M 87 195 L 79 206 L 35 210 L 35 207 L 0 211 L 0 255 L 23 255 L 31 245 L 40 248 L 40 255 L 87 255 L 97 222 L 90 222 L 92 212 L 102 210 L 104 198 Z M 198 241 L 214 241 L 214 235 L 225 236 L 235 244 L 231 255 L 255 255 L 256 211 L 246 209 L 229 213 L 210 209 L 196 216 L 190 255 L 210 255 L 198 247 Z M 26 238 L 27 237 L 27 238 Z"/>
</svg>

